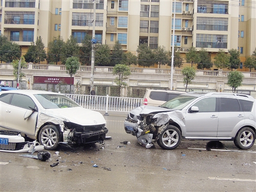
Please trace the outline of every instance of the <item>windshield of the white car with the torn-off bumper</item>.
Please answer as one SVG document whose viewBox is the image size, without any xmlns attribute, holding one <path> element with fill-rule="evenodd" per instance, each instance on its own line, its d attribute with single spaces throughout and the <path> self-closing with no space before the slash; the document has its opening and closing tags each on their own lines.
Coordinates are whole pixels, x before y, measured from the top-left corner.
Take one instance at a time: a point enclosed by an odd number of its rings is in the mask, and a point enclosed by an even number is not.
<svg viewBox="0 0 256 192">
<path fill-rule="evenodd" d="M 45 109 L 75 108 L 80 106 L 65 95 L 35 94 L 34 96 Z"/>
</svg>

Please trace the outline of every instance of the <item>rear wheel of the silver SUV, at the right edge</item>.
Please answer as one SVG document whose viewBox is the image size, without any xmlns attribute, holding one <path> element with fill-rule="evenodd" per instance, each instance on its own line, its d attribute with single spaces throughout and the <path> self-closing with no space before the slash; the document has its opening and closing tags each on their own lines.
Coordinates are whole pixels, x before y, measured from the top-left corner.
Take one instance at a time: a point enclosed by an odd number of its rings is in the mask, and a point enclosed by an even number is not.
<svg viewBox="0 0 256 192">
<path fill-rule="evenodd" d="M 250 127 L 243 127 L 234 138 L 234 145 L 242 150 L 248 150 L 255 142 L 255 132 Z"/>
</svg>

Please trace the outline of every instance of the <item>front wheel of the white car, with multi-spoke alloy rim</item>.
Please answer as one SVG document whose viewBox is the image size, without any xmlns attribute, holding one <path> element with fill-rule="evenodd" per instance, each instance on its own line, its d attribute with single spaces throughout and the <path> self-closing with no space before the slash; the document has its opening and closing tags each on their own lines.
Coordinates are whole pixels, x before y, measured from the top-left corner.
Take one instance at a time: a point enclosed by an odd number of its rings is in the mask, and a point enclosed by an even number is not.
<svg viewBox="0 0 256 192">
<path fill-rule="evenodd" d="M 46 125 L 39 132 L 39 142 L 44 145 L 45 150 L 55 150 L 59 143 L 59 132 L 54 125 Z"/>
</svg>

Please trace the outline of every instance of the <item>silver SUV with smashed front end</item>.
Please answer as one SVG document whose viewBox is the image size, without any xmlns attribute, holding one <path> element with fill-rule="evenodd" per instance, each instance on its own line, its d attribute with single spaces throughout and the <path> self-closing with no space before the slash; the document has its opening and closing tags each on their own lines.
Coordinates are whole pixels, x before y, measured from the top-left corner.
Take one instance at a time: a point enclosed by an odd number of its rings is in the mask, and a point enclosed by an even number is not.
<svg viewBox="0 0 256 192">
<path fill-rule="evenodd" d="M 127 116 L 124 129 L 147 148 L 157 142 L 173 150 L 184 138 L 233 141 L 246 150 L 255 141 L 255 102 L 243 94 L 190 92 L 160 107 L 139 106 Z"/>
</svg>

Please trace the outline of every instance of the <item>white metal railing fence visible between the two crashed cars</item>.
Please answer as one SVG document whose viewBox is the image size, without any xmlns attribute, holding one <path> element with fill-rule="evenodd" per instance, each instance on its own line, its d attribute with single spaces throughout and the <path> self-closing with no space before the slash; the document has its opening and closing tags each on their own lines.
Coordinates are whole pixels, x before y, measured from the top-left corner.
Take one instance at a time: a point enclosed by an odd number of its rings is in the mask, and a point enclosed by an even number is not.
<svg viewBox="0 0 256 192">
<path fill-rule="evenodd" d="M 90 110 L 129 112 L 143 104 L 142 98 L 64 94 Z"/>
</svg>

